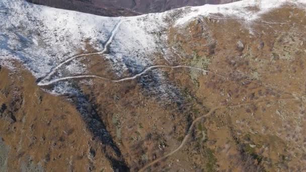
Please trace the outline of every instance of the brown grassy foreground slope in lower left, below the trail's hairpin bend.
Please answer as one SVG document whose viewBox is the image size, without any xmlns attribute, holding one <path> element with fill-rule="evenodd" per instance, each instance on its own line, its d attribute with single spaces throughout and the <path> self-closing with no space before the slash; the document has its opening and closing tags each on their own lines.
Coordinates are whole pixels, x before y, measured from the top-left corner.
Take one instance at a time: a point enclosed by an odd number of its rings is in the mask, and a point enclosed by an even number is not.
<svg viewBox="0 0 306 172">
<path fill-rule="evenodd" d="M 23 69 L 1 68 L 0 77 L 1 171 L 111 170 L 119 164 L 91 140 L 72 102 L 44 93 Z"/>
</svg>

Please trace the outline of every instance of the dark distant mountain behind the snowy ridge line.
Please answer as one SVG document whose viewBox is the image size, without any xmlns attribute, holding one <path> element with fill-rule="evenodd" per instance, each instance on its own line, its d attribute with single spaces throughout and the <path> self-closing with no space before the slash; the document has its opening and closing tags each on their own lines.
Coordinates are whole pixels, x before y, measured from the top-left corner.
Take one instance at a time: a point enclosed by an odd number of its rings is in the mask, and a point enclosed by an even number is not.
<svg viewBox="0 0 306 172">
<path fill-rule="evenodd" d="M 239 0 L 27 0 L 28 2 L 100 16 L 135 16 L 186 6 L 226 4 Z"/>
</svg>

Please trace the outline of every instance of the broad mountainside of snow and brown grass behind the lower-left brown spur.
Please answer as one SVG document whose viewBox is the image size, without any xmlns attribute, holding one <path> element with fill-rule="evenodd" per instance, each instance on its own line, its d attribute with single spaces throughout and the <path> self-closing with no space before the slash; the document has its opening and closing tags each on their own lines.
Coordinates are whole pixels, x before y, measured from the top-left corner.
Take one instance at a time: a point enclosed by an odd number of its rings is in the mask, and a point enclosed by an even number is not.
<svg viewBox="0 0 306 172">
<path fill-rule="evenodd" d="M 304 1 L 242 1 L 121 18 L 19 0 L 0 6 L 2 84 L 31 78 L 5 77 L 7 68 L 21 71 L 15 65 L 21 62 L 37 79 L 35 91 L 54 99 L 52 109 L 62 101 L 80 116 L 79 131 L 104 159 L 88 170 L 103 164 L 106 171 L 306 170 Z M 5 90 L 0 103 L 7 105 L 14 96 L 6 98 Z M 22 111 L 8 112 L 1 122 L 22 125 Z M 18 139 L 4 131 L 0 148 L 7 154 Z M 22 157 L 55 169 L 31 152 Z M 20 168 L 12 157 L 0 162 L 11 158 Z"/>
</svg>

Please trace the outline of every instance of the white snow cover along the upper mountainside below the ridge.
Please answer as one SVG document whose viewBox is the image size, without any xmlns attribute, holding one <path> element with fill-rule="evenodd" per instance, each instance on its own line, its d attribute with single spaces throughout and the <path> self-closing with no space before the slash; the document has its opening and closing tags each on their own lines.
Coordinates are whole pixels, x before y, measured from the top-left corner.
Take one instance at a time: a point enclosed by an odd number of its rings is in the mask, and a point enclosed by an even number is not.
<svg viewBox="0 0 306 172">
<path fill-rule="evenodd" d="M 306 1 L 252 0 L 110 18 L 33 5 L 23 0 L 2 0 L 0 64 L 13 68 L 12 62 L 18 60 L 35 77 L 52 80 L 67 77 L 61 68 L 73 75 L 86 73 L 87 66 L 78 59 L 94 53 L 109 59 L 118 77 L 126 72 L 133 75 L 157 64 L 156 54 L 162 54 L 170 65 L 176 62 L 177 52 L 167 45 L 167 31 L 172 26 L 182 27 L 199 16 L 213 14 L 250 23 L 285 3 L 301 6 Z M 95 51 L 88 52 L 87 46 Z"/>
</svg>

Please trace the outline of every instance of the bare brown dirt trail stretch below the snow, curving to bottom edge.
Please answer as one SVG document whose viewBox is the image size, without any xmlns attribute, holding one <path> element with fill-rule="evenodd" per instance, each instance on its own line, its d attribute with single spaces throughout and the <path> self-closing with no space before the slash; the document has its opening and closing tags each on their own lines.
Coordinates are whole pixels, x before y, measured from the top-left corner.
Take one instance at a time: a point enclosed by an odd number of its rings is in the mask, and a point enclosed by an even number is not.
<svg viewBox="0 0 306 172">
<path fill-rule="evenodd" d="M 187 131 L 187 134 L 186 136 L 184 137 L 183 141 L 181 142 L 180 146 L 177 147 L 175 150 L 169 152 L 168 154 L 162 156 L 162 157 L 159 157 L 157 158 L 156 160 L 146 164 L 145 166 L 143 166 L 141 169 L 138 170 L 138 172 L 141 172 L 141 171 L 144 171 L 146 168 L 158 163 L 159 161 L 161 160 L 164 160 L 165 158 L 173 155 L 174 153 L 178 152 L 181 148 L 184 147 L 184 145 L 186 144 L 188 138 L 190 137 L 191 135 L 191 132 L 195 126 L 195 124 L 200 121 L 202 118 L 204 117 L 208 117 L 209 115 L 213 114 L 216 110 L 218 109 L 224 109 L 224 108 L 239 108 L 239 107 L 242 107 L 242 106 L 248 106 L 248 105 L 252 105 L 252 104 L 259 104 L 259 103 L 267 103 L 267 102 L 277 102 L 277 101 L 299 101 L 298 98 L 284 98 L 284 99 L 276 99 L 274 101 L 254 101 L 254 102 L 250 102 L 250 103 L 245 103 L 245 104 L 240 104 L 240 105 L 233 105 L 233 106 L 218 106 L 218 107 L 215 107 L 215 108 L 212 108 L 207 114 L 204 114 L 198 118 L 196 118 L 195 120 L 193 120 L 192 124 L 190 125 L 188 131 Z"/>
</svg>

